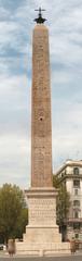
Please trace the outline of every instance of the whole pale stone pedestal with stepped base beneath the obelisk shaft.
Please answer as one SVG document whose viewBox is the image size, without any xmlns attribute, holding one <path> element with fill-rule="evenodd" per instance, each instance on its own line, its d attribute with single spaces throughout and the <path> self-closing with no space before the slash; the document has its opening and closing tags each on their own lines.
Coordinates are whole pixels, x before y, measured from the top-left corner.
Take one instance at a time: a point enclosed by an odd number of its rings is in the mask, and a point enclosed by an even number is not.
<svg viewBox="0 0 82 261">
<path fill-rule="evenodd" d="M 69 252 L 69 243 L 62 243 L 56 225 L 56 190 L 37 188 L 27 191 L 29 224 L 23 243 L 16 243 L 16 252 L 28 256 L 53 256 Z"/>
</svg>

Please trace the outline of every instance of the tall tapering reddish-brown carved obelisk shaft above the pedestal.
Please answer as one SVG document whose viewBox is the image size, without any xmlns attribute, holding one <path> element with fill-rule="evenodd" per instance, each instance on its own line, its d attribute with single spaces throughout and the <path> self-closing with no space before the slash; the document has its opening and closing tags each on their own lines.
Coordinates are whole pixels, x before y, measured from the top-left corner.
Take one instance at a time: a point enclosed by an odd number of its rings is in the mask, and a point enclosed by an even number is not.
<svg viewBox="0 0 82 261">
<path fill-rule="evenodd" d="M 49 30 L 39 14 L 32 36 L 31 186 L 52 187 Z"/>
</svg>

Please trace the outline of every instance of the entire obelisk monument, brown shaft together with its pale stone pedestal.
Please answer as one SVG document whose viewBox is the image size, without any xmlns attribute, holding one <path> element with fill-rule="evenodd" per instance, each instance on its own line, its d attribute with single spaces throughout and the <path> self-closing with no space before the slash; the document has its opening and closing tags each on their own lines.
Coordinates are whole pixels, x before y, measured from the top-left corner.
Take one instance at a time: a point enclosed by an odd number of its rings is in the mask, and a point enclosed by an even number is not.
<svg viewBox="0 0 82 261">
<path fill-rule="evenodd" d="M 32 36 L 31 187 L 27 191 L 29 221 L 23 249 L 51 254 L 67 249 L 56 225 L 56 190 L 52 174 L 52 120 L 49 30 L 41 9 Z M 20 245 L 22 246 L 22 245 Z"/>
</svg>

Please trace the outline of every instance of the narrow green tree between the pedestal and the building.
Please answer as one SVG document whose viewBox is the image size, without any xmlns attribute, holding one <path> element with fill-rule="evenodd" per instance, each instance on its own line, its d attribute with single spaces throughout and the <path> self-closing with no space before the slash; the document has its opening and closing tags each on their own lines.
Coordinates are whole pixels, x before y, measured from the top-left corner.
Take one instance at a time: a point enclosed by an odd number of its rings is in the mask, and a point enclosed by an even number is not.
<svg viewBox="0 0 82 261">
<path fill-rule="evenodd" d="M 56 220 L 59 225 L 60 232 L 66 227 L 66 221 L 69 213 L 70 207 L 70 195 L 67 191 L 66 185 L 62 182 L 60 177 L 53 175 L 53 185 L 58 189 L 58 195 L 56 199 Z"/>
</svg>

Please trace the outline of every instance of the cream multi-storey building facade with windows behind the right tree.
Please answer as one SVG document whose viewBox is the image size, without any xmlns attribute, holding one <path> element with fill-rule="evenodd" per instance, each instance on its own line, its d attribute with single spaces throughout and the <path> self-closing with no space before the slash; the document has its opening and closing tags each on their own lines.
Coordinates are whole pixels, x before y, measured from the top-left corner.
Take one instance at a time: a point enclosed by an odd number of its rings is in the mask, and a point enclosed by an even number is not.
<svg viewBox="0 0 82 261">
<path fill-rule="evenodd" d="M 70 194 L 70 209 L 66 221 L 66 239 L 82 240 L 82 161 L 68 160 L 56 172 Z"/>
</svg>

